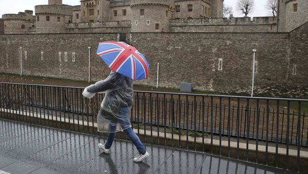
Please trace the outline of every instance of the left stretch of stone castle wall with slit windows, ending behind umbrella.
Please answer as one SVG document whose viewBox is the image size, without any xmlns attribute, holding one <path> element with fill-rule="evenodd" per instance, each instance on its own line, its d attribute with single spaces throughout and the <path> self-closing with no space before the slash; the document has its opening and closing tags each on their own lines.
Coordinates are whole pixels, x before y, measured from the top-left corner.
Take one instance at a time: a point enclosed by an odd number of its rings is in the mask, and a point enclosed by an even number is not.
<svg viewBox="0 0 308 174">
<path fill-rule="evenodd" d="M 19 48 L 23 47 L 25 75 L 86 80 L 88 46 L 90 46 L 92 80 L 98 81 L 110 72 L 108 66 L 96 56 L 98 44 L 104 41 L 118 41 L 118 38 L 118 33 L 0 35 L 0 71 L 20 73 Z M 24 57 L 25 51 L 27 51 L 27 60 Z M 61 52 L 61 62 L 59 52 Z M 67 62 L 65 52 L 67 52 Z M 75 62 L 72 62 L 73 53 L 75 53 Z"/>
</svg>

